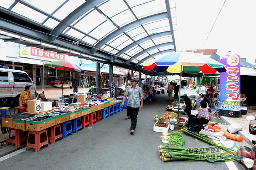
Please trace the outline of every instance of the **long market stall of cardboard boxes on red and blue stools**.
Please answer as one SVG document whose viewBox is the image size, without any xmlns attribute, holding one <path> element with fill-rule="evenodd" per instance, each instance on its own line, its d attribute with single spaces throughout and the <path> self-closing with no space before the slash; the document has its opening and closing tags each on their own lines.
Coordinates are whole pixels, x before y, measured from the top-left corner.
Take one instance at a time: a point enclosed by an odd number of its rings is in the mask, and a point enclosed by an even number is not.
<svg viewBox="0 0 256 170">
<path fill-rule="evenodd" d="M 29 100 L 28 112 L 2 117 L 2 127 L 15 131 L 14 137 L 9 135 L 8 142 L 18 147 L 22 141 L 27 141 L 27 147 L 39 151 L 42 146 L 48 145 L 48 139 L 54 143 L 58 138 L 65 138 L 69 133 L 85 129 L 87 125 L 93 125 L 122 110 L 122 100 L 116 98 L 95 98 L 93 95 L 80 94 L 79 99 L 80 102 L 72 102 L 68 106 L 60 102 L 60 106 L 48 109 L 47 102 Z M 58 134 L 56 129 L 59 129 Z M 28 136 L 24 130 L 28 131 Z"/>
</svg>

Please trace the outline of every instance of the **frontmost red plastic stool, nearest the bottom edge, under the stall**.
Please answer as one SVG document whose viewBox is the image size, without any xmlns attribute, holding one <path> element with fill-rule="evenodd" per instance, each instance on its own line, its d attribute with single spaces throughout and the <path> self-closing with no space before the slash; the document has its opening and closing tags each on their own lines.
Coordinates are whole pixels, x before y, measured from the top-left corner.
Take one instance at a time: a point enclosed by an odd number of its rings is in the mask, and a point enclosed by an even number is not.
<svg viewBox="0 0 256 170">
<path fill-rule="evenodd" d="M 46 133 L 46 136 L 45 137 L 42 137 L 41 138 L 41 134 L 42 133 Z M 29 140 L 29 135 L 34 135 L 35 138 L 34 140 Z M 41 142 L 41 140 L 44 140 L 43 142 Z M 49 143 L 48 143 L 48 136 L 47 136 L 47 130 L 44 129 L 42 131 L 39 131 L 39 132 L 33 132 L 33 131 L 29 131 L 28 132 L 28 141 L 27 141 L 27 147 L 26 147 L 26 150 L 28 149 L 28 147 L 32 147 L 35 149 L 35 152 L 39 151 L 41 149 L 42 146 L 44 145 L 48 145 L 49 146 Z"/>
</svg>

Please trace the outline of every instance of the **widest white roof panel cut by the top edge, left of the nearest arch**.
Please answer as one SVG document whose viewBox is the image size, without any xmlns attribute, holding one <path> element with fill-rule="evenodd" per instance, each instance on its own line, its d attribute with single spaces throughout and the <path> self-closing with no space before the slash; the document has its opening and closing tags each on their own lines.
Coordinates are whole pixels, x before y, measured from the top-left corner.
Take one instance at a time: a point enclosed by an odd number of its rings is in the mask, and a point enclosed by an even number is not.
<svg viewBox="0 0 256 170">
<path fill-rule="evenodd" d="M 24 1 L 47 12 L 48 14 L 52 14 L 52 12 L 54 12 L 54 10 L 56 10 L 56 8 L 58 8 L 65 0 L 44 0 L 43 3 L 40 0 L 24 0 Z M 43 5 L 43 4 L 47 4 L 47 5 Z"/>
</svg>

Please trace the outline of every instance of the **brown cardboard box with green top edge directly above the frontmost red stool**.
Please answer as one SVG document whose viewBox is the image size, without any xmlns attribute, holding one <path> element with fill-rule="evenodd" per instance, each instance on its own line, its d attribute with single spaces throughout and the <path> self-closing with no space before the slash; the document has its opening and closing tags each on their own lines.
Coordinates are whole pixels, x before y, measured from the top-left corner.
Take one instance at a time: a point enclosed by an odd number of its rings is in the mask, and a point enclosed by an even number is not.
<svg viewBox="0 0 256 170">
<path fill-rule="evenodd" d="M 38 132 L 47 129 L 48 127 L 52 127 L 56 125 L 55 118 L 56 117 L 51 117 L 41 121 L 26 121 L 26 130 Z"/>
</svg>

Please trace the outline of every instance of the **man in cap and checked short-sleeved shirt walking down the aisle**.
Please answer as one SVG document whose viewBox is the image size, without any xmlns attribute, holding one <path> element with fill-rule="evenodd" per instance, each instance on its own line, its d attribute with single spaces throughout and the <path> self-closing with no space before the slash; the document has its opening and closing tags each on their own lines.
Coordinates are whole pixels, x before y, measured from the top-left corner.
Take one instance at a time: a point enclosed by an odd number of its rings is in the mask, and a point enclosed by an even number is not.
<svg viewBox="0 0 256 170">
<path fill-rule="evenodd" d="M 132 121 L 130 133 L 134 134 L 134 130 L 137 125 L 137 115 L 139 109 L 143 107 L 144 96 L 142 93 L 142 89 L 137 86 L 139 80 L 133 77 L 130 82 L 132 86 L 128 87 L 126 92 L 124 93 L 124 98 L 121 106 L 124 107 L 124 101 L 126 100 L 126 98 L 128 98 L 127 115 Z"/>
</svg>

